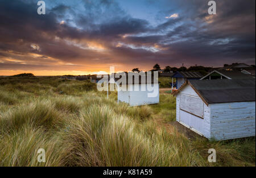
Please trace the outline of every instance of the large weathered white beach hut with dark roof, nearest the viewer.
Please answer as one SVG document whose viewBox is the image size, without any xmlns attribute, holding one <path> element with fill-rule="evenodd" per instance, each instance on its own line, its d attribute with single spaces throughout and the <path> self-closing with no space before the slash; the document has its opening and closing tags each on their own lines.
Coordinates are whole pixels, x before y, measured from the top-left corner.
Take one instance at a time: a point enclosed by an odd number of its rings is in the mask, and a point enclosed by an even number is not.
<svg viewBox="0 0 256 178">
<path fill-rule="evenodd" d="M 176 121 L 208 139 L 255 136 L 255 80 L 189 80 L 177 91 Z"/>
</svg>

